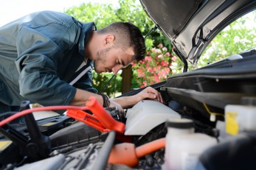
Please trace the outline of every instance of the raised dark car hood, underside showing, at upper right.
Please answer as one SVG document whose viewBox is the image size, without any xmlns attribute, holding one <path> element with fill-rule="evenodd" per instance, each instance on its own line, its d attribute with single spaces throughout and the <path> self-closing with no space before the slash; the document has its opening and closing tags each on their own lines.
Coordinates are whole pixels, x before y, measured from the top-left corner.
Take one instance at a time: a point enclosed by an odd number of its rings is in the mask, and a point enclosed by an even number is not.
<svg viewBox="0 0 256 170">
<path fill-rule="evenodd" d="M 249 12 L 255 0 L 140 0 L 145 12 L 170 40 L 179 57 L 196 64 L 225 26 Z"/>
</svg>

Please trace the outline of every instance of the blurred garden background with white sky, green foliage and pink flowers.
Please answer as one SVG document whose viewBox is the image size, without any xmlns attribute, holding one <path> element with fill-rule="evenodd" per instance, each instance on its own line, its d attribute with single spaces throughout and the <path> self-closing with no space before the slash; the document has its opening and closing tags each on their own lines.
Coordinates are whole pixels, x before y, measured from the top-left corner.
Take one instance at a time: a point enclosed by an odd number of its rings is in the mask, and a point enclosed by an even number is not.
<svg viewBox="0 0 256 170">
<path fill-rule="evenodd" d="M 0 26 L 14 21 L 23 15 L 40 10 L 55 10 L 67 13 L 82 22 L 91 22 L 97 26 L 97 29 L 103 28 L 114 21 L 130 21 L 141 29 L 143 35 L 155 26 L 153 21 L 148 18 L 139 0 L 8 0 L 1 1 L 0 7 Z M 171 7 L 170 7 L 171 8 Z M 161 10 L 161 9 L 159 9 Z M 247 18 L 246 18 L 247 17 Z M 256 14 L 252 13 L 245 18 L 241 18 L 235 23 L 224 29 L 202 54 L 198 65 L 189 64 L 189 70 L 200 68 L 209 63 L 214 63 L 243 49 L 236 48 L 237 43 L 243 43 L 244 49 L 246 44 L 252 43 L 256 46 L 255 28 L 248 27 L 249 19 L 255 20 Z M 243 36 L 252 34 L 252 38 Z M 239 35 L 239 37 L 237 36 Z M 226 36 L 230 36 L 229 42 L 226 42 Z M 244 39 L 246 37 L 246 40 Z M 215 41 L 216 40 L 216 41 Z M 132 63 L 128 68 L 122 69 L 117 76 L 111 80 L 103 93 L 111 97 L 120 96 L 123 93 L 133 91 L 137 88 L 143 88 L 157 82 L 162 82 L 173 74 L 182 72 L 183 63 L 173 52 L 173 46 L 170 41 L 159 32 L 151 32 L 145 40 L 147 52 L 145 59 L 140 62 Z M 215 43 L 215 42 L 218 42 Z M 93 72 L 94 88 L 100 91 L 108 79 L 112 77 L 111 73 L 96 74 Z"/>
</svg>

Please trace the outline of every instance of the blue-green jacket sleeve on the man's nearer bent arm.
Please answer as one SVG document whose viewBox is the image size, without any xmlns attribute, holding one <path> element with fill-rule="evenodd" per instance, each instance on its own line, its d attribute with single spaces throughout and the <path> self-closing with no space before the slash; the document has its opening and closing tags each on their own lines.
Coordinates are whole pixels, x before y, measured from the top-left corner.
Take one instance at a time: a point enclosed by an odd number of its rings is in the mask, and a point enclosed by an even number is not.
<svg viewBox="0 0 256 170">
<path fill-rule="evenodd" d="M 62 38 L 69 39 L 66 35 Z M 58 62 L 64 56 L 60 46 L 36 29 L 24 27 L 17 35 L 17 50 L 21 96 L 41 105 L 69 105 L 76 88 L 58 77 Z"/>
</svg>

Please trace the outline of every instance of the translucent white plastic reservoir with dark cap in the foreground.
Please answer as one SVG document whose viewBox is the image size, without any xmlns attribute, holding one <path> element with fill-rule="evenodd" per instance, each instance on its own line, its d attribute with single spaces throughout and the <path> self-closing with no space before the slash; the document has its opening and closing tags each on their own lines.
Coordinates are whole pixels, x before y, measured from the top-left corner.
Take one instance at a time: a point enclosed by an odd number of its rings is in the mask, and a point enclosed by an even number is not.
<svg viewBox="0 0 256 170">
<path fill-rule="evenodd" d="M 205 149 L 217 144 L 215 138 L 195 133 L 193 121 L 185 118 L 167 121 L 165 165 L 163 169 L 193 170 Z"/>
</svg>

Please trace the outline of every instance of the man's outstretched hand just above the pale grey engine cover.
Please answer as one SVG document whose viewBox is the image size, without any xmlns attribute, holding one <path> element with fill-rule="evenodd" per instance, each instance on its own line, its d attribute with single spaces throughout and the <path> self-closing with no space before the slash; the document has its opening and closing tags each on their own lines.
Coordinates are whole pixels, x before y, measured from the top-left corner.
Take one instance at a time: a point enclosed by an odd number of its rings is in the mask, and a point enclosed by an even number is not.
<svg viewBox="0 0 256 170">
<path fill-rule="evenodd" d="M 161 94 L 151 87 L 145 88 L 143 91 L 137 93 L 134 97 L 138 99 L 138 102 L 144 99 L 153 99 L 162 103 L 164 102 Z"/>
</svg>

